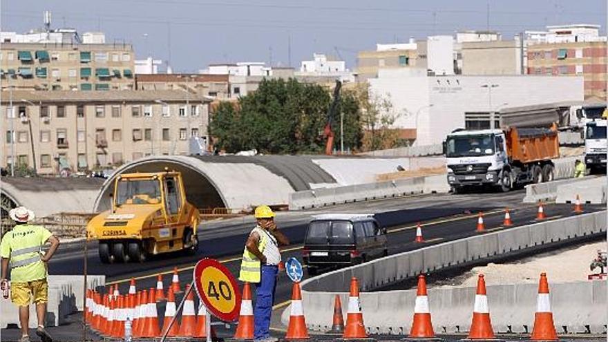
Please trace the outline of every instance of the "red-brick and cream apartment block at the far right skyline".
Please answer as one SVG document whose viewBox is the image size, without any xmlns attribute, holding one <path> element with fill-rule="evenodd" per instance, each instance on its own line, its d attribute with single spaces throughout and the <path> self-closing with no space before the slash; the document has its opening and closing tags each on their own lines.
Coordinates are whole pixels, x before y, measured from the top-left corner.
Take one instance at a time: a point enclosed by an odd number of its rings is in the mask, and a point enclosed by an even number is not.
<svg viewBox="0 0 608 342">
<path fill-rule="evenodd" d="M 585 98 L 606 98 L 606 41 L 531 44 L 530 75 L 582 75 Z"/>
</svg>

